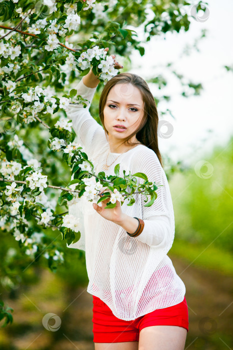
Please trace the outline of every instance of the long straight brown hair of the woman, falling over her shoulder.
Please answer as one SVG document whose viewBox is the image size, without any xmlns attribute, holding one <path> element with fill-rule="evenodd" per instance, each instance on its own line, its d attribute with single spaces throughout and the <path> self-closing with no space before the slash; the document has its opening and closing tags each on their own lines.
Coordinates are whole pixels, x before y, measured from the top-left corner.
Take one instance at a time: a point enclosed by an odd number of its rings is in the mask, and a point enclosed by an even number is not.
<svg viewBox="0 0 233 350">
<path fill-rule="evenodd" d="M 137 144 L 136 142 L 129 142 L 130 138 L 134 135 L 136 135 L 136 138 L 145 146 L 148 148 L 153 149 L 153 151 L 156 153 L 161 166 L 163 167 L 163 159 L 162 155 L 159 151 L 158 146 L 158 122 L 159 122 L 159 116 L 157 111 L 157 106 L 155 99 L 149 89 L 149 86 L 147 82 L 139 75 L 125 72 L 120 73 L 115 76 L 113 76 L 110 80 L 107 81 L 107 83 L 104 85 L 104 88 L 102 90 L 100 100 L 99 100 L 99 117 L 101 120 L 101 123 L 103 125 L 106 137 L 108 135 L 108 131 L 106 130 L 104 126 L 104 106 L 107 100 L 107 95 L 110 91 L 110 89 L 116 85 L 116 84 L 124 84 L 124 83 L 131 83 L 132 85 L 136 86 L 140 89 L 142 99 L 144 102 L 144 115 L 141 120 L 141 124 L 139 127 L 134 131 L 132 134 L 130 134 L 127 138 L 125 138 L 122 142 L 127 142 L 128 145 Z"/>
</svg>

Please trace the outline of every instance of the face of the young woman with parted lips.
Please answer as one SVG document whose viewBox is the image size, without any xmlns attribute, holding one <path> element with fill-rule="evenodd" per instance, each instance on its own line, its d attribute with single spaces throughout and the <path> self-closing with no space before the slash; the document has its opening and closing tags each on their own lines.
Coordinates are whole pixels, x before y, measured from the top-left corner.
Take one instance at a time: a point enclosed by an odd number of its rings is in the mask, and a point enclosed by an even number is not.
<svg viewBox="0 0 233 350">
<path fill-rule="evenodd" d="M 109 140 L 117 144 L 117 141 L 128 137 L 141 123 L 144 114 L 141 91 L 131 83 L 114 85 L 107 95 L 103 112 Z M 125 128 L 117 128 L 115 125 L 123 125 Z M 131 138 L 131 141 L 135 140 L 136 135 Z"/>
</svg>

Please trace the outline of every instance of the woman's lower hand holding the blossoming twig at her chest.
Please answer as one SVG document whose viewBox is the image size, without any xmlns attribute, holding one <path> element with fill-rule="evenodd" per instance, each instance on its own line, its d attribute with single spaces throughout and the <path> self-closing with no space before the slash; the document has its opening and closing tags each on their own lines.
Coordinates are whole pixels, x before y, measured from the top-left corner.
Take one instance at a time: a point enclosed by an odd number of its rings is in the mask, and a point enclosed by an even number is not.
<svg viewBox="0 0 233 350">
<path fill-rule="evenodd" d="M 107 190 L 105 191 L 105 189 Z M 98 195 L 102 195 L 103 192 L 110 192 L 113 193 L 108 187 L 102 187 Z M 105 200 L 102 200 L 102 206 L 99 206 L 96 203 L 93 203 L 93 208 L 100 214 L 102 217 L 106 218 L 107 220 L 110 220 L 115 223 L 120 223 L 124 219 L 124 213 L 121 210 L 121 203 L 119 200 L 116 201 L 115 208 L 105 208 L 106 204 L 110 201 L 110 198 L 106 198 Z"/>
</svg>

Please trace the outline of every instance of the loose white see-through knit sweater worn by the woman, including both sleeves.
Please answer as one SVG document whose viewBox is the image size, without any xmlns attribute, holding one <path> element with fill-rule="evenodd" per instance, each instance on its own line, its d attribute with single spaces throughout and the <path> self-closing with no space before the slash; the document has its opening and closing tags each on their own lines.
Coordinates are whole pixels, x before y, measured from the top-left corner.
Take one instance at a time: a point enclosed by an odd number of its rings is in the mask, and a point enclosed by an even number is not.
<svg viewBox="0 0 233 350">
<path fill-rule="evenodd" d="M 81 79 L 77 93 L 92 101 L 96 87 L 84 85 Z M 163 184 L 157 189 L 158 197 L 152 206 L 143 206 L 145 195 L 134 194 L 135 203 L 122 204 L 122 211 L 144 220 L 145 226 L 137 237 L 130 237 L 118 224 L 98 214 L 92 202 L 81 196 L 79 203 L 69 206 L 69 213 L 80 218 L 81 238 L 67 246 L 85 250 L 89 278 L 87 291 L 98 296 L 124 320 L 133 320 L 157 308 L 164 308 L 183 301 L 186 288 L 176 273 L 167 253 L 175 233 L 174 210 L 168 180 L 156 153 L 143 144 L 122 153 L 109 153 L 108 164 L 103 170 L 109 151 L 103 127 L 91 116 L 90 103 L 69 105 L 67 117 L 72 120 L 76 141 L 88 158 L 97 164 L 97 172 L 115 175 L 114 167 L 120 163 L 119 176 L 144 172 L 149 181 Z M 137 177 L 138 183 L 143 179 Z M 150 200 L 150 196 L 148 196 Z"/>
</svg>

